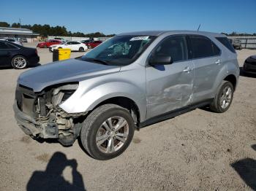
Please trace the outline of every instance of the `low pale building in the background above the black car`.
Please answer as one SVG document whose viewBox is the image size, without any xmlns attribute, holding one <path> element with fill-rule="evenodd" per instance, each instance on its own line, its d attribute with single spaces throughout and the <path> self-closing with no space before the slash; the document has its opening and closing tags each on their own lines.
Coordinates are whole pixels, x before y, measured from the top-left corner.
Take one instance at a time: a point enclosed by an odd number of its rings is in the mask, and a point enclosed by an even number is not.
<svg viewBox="0 0 256 191">
<path fill-rule="evenodd" d="M 37 40 L 37 36 L 39 34 L 33 33 L 33 31 L 26 28 L 0 27 L 0 39 L 27 39 L 28 42 L 34 42 Z"/>
</svg>

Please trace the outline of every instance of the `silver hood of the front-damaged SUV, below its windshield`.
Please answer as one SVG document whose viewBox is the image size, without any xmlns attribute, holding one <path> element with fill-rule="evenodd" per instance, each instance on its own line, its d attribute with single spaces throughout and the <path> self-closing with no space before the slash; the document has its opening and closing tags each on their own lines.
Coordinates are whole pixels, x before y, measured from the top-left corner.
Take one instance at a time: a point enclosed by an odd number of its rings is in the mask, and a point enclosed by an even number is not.
<svg viewBox="0 0 256 191">
<path fill-rule="evenodd" d="M 72 58 L 25 71 L 18 77 L 18 84 L 30 87 L 34 92 L 40 92 L 50 85 L 80 82 L 118 71 L 120 71 L 120 66 L 106 66 Z"/>
</svg>

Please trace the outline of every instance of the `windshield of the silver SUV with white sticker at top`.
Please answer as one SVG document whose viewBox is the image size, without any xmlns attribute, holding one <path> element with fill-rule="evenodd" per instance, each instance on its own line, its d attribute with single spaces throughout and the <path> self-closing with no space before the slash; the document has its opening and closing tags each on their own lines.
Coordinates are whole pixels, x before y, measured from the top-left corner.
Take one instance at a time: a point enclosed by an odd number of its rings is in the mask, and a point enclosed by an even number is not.
<svg viewBox="0 0 256 191">
<path fill-rule="evenodd" d="M 114 36 L 83 55 L 81 59 L 125 66 L 134 62 L 154 39 L 155 36 Z"/>
</svg>

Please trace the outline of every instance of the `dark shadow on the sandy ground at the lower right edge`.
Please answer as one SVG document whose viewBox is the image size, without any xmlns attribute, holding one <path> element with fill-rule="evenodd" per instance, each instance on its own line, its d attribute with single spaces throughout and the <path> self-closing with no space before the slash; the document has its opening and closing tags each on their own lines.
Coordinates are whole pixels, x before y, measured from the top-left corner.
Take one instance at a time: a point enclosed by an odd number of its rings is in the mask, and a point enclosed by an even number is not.
<svg viewBox="0 0 256 191">
<path fill-rule="evenodd" d="M 256 144 L 252 145 L 252 149 L 256 151 Z M 232 163 L 231 166 L 252 190 L 256 190 L 256 160 L 244 158 Z"/>
</svg>

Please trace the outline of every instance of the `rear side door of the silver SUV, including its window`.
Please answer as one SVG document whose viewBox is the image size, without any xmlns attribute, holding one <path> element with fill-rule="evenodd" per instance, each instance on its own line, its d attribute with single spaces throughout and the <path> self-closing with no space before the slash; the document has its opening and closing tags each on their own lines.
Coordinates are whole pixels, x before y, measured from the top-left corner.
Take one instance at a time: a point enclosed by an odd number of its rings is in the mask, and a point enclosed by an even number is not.
<svg viewBox="0 0 256 191">
<path fill-rule="evenodd" d="M 189 36 L 189 53 L 195 66 L 193 103 L 212 97 L 214 82 L 221 69 L 221 50 L 206 36 Z"/>
</svg>

